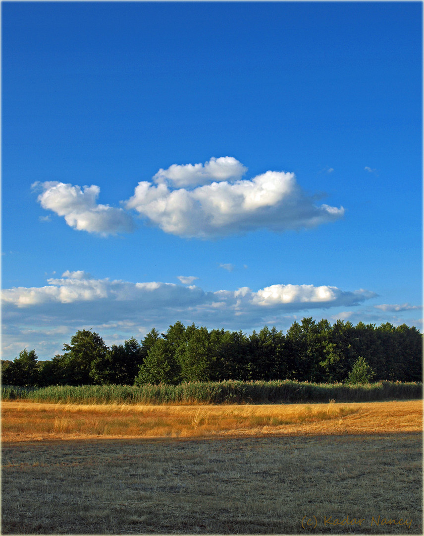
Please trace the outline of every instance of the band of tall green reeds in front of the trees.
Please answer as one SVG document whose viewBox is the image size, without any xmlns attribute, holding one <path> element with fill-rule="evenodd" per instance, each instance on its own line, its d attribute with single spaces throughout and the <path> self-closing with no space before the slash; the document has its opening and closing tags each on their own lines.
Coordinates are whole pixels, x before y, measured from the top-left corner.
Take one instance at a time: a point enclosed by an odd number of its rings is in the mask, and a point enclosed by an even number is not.
<svg viewBox="0 0 424 536">
<path fill-rule="evenodd" d="M 422 382 L 362 385 L 275 381 L 188 382 L 179 385 L 2 386 L 3 400 L 81 404 L 282 404 L 366 402 L 422 398 Z"/>
</svg>

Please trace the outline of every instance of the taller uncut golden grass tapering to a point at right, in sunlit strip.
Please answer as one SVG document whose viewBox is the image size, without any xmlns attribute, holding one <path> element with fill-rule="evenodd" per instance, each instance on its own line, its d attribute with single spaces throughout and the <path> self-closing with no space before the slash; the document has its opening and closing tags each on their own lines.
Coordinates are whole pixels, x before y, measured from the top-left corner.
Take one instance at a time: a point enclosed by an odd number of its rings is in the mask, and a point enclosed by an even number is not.
<svg viewBox="0 0 424 536">
<path fill-rule="evenodd" d="M 171 436 L 252 431 L 338 420 L 359 407 L 326 404 L 313 406 L 119 406 L 47 403 L 5 403 L 3 438 L 66 436 Z"/>
</svg>

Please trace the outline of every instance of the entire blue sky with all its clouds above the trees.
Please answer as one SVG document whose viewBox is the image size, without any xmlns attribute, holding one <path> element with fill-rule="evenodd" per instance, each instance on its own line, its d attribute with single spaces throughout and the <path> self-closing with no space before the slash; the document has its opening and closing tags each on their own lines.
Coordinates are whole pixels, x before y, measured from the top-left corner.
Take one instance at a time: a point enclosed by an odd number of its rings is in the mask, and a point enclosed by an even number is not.
<svg viewBox="0 0 424 536">
<path fill-rule="evenodd" d="M 3 2 L 2 345 L 422 326 L 420 2 Z"/>
</svg>

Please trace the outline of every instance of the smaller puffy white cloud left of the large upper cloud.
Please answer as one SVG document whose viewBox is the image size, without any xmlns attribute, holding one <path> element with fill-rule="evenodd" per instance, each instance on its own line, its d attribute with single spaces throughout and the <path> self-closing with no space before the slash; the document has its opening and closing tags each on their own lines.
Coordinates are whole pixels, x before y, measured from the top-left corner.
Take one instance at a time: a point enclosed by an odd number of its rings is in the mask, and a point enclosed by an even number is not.
<svg viewBox="0 0 424 536">
<path fill-rule="evenodd" d="M 38 196 L 43 209 L 64 216 L 67 225 L 77 230 L 103 236 L 130 233 L 134 230 L 133 218 L 122 209 L 98 205 L 100 188 L 96 185 L 81 187 L 63 182 L 36 182 L 34 189 L 42 189 Z"/>
</svg>

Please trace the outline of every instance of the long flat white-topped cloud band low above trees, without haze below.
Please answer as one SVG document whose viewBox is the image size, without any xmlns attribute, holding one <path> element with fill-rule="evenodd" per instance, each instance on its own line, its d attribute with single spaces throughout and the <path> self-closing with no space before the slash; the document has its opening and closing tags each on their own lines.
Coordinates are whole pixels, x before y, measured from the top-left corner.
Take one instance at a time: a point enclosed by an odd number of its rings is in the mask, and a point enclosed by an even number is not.
<svg viewBox="0 0 424 536">
<path fill-rule="evenodd" d="M 191 283 L 194 276 L 180 276 L 181 282 Z M 271 285 L 257 292 L 249 287 L 240 287 L 237 291 L 220 290 L 204 292 L 196 286 L 180 286 L 173 283 L 158 281 L 128 282 L 122 280 L 95 279 L 82 270 L 66 271 L 61 278 L 49 278 L 48 286 L 14 287 L 2 291 L 4 304 L 17 308 L 29 308 L 42 304 L 71 303 L 107 303 L 139 302 L 137 308 L 167 304 L 169 307 L 180 307 L 182 304 L 195 306 L 199 303 L 225 302 L 227 306 L 238 307 L 241 304 L 248 308 L 281 307 L 303 310 L 310 307 L 333 307 L 341 304 L 356 305 L 364 300 L 375 297 L 373 292 L 360 289 L 344 292 L 337 287 L 313 285 Z M 174 301 L 176 300 L 176 301 Z M 104 304 L 104 303 L 103 303 Z M 103 305 L 102 305 L 103 307 Z"/>
</svg>

